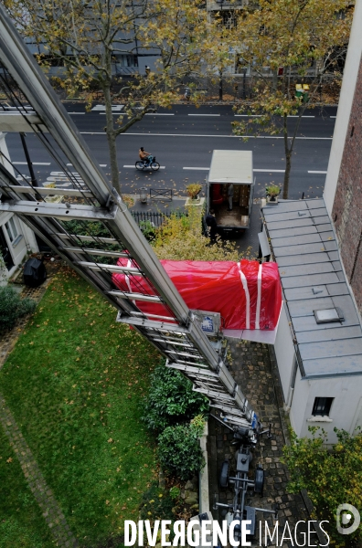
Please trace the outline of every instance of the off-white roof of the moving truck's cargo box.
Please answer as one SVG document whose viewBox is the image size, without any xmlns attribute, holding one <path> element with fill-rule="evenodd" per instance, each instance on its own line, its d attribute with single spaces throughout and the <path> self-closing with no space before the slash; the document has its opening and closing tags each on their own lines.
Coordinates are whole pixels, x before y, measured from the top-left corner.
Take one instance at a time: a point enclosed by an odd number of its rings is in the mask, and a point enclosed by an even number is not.
<svg viewBox="0 0 362 548">
<path fill-rule="evenodd" d="M 208 182 L 251 184 L 253 182 L 252 152 L 213 151 Z"/>
</svg>

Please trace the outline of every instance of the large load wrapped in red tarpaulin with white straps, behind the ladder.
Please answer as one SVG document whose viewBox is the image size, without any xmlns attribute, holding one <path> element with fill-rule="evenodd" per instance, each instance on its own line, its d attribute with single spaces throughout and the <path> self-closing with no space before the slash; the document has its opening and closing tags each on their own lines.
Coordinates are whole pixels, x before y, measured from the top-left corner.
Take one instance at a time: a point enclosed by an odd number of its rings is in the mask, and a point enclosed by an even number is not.
<svg viewBox="0 0 362 548">
<path fill-rule="evenodd" d="M 260 264 L 247 259 L 240 263 L 198 260 L 161 260 L 161 263 L 188 308 L 219 312 L 225 329 L 275 329 L 282 306 L 276 263 Z M 117 264 L 127 266 L 127 259 L 120 258 Z M 153 294 L 140 276 L 114 273 L 112 279 L 123 291 Z M 140 300 L 135 303 L 146 314 L 170 315 L 163 305 Z"/>
</svg>

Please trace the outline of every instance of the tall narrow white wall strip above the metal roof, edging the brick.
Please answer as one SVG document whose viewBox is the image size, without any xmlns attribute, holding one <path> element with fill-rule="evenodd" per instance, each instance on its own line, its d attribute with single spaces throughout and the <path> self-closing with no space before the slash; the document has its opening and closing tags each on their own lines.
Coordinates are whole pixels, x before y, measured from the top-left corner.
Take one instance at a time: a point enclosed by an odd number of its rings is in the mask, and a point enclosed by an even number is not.
<svg viewBox="0 0 362 548">
<path fill-rule="evenodd" d="M 338 111 L 335 120 L 335 132 L 333 134 L 332 148 L 329 156 L 328 170 L 325 178 L 325 205 L 332 213 L 335 200 L 335 188 L 338 181 L 339 169 L 342 162 L 343 150 L 346 141 L 349 116 L 355 93 L 359 63 L 362 54 L 362 0 L 356 1 L 355 15 L 351 36 L 349 39 L 346 56 L 346 66 L 343 73 L 342 89 L 338 103 Z"/>
</svg>

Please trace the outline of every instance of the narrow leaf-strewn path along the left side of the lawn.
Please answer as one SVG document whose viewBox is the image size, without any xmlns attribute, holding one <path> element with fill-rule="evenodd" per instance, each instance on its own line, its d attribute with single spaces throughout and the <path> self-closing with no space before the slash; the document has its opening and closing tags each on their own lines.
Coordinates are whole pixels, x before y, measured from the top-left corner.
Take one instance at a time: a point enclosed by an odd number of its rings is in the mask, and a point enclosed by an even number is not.
<svg viewBox="0 0 362 548">
<path fill-rule="evenodd" d="M 48 267 L 48 265 L 47 265 Z M 49 265 L 50 267 L 50 265 Z M 48 270 L 54 274 L 59 268 L 59 264 L 51 265 Z M 51 278 L 48 278 L 46 283 L 37 289 L 25 288 L 22 292 L 22 297 L 30 297 L 31 299 L 41 300 Z M 7 355 L 13 350 L 19 335 L 24 331 L 27 325 L 27 318 L 20 319 L 16 322 L 16 326 L 9 332 L 2 335 L 0 341 L 0 369 L 5 364 Z M 33 457 L 30 448 L 27 446 L 27 441 L 23 437 L 20 428 L 16 424 L 16 420 L 10 409 L 6 406 L 3 395 L 0 394 L 0 424 L 4 428 L 5 435 L 8 437 L 10 446 L 14 449 L 16 458 L 18 459 L 27 483 L 32 491 L 44 519 L 48 523 L 55 546 L 64 548 L 75 548 L 79 546 L 75 536 L 69 530 L 69 525 L 66 522 L 58 502 L 56 501 L 52 490 L 49 489 L 44 476 L 37 465 L 37 461 Z"/>
</svg>

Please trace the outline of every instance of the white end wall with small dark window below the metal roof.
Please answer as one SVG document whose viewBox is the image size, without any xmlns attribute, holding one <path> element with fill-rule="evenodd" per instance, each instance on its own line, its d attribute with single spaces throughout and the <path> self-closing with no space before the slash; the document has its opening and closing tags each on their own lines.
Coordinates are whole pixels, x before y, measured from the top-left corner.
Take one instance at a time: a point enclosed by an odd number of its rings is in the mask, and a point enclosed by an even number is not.
<svg viewBox="0 0 362 548">
<path fill-rule="evenodd" d="M 334 444 L 334 428 L 353 433 L 361 411 L 362 375 L 302 380 L 297 373 L 291 423 L 299 437 L 309 436 L 308 427 L 322 427 L 328 435 L 328 443 Z M 312 416 L 315 397 L 335 398 L 329 417 Z"/>
</svg>

